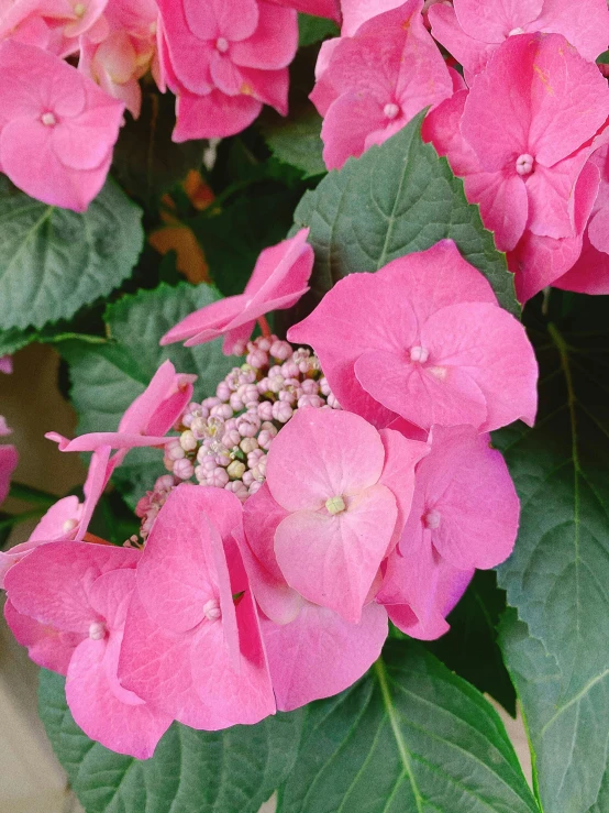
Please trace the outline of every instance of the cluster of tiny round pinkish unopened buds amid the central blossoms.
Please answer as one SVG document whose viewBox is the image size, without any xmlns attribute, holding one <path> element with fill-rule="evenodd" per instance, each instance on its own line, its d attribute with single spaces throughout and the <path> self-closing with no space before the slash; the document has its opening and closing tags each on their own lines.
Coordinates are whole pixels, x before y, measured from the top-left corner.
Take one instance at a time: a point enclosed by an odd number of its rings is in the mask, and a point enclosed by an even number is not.
<svg viewBox="0 0 609 813">
<path fill-rule="evenodd" d="M 189 404 L 180 435 L 167 441 L 164 463 L 170 474 L 137 504 L 144 539 L 175 485 L 196 480 L 244 502 L 264 483 L 273 439 L 299 408 L 340 408 L 310 350 L 295 350 L 272 336 L 243 351 L 245 363 L 231 370 L 214 396 Z"/>
</svg>

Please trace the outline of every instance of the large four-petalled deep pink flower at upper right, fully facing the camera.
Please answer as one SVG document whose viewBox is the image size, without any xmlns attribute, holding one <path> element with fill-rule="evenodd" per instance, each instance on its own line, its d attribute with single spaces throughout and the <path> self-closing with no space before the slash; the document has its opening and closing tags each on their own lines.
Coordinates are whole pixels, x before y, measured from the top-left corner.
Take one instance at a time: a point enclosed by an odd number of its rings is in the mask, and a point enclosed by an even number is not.
<svg viewBox="0 0 609 813">
<path fill-rule="evenodd" d="M 535 275 L 550 284 L 547 277 L 561 276 L 568 265 L 556 256 L 550 264 L 539 262 L 539 251 L 528 259 L 517 249 L 519 241 L 553 252 L 565 245 L 546 239 L 569 239 L 572 253 L 580 245 L 596 195 L 589 172 L 577 186 L 600 146 L 595 136 L 608 113 L 609 88 L 596 66 L 557 34 L 528 34 L 505 42 L 472 90 L 455 94 L 425 121 L 425 140 L 464 176 L 467 198 L 479 204 L 497 248 L 517 250 L 518 263 L 510 265 L 524 276 L 531 271 L 530 281 L 517 279 L 523 300 L 540 289 Z M 549 270 L 540 273 L 536 265 Z"/>
</svg>

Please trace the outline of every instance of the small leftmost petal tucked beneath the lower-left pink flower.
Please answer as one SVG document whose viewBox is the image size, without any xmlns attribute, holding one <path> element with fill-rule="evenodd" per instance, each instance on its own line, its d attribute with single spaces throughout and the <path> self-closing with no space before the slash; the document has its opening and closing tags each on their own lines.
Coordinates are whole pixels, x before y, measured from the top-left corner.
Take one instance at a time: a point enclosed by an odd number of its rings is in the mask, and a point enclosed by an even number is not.
<svg viewBox="0 0 609 813">
<path fill-rule="evenodd" d="M 18 644 L 27 647 L 30 658 L 43 669 L 67 674 L 70 658 L 82 640 L 77 633 L 63 633 L 18 613 L 10 601 L 4 604 L 4 618 Z"/>
</svg>

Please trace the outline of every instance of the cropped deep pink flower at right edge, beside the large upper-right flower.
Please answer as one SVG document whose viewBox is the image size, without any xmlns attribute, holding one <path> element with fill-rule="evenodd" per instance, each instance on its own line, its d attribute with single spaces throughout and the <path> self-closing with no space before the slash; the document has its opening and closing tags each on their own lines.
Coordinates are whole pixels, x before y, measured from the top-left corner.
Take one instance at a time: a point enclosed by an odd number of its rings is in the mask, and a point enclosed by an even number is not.
<svg viewBox="0 0 609 813">
<path fill-rule="evenodd" d="M 597 150 L 590 158 L 600 173 L 600 186 L 576 263 L 553 285 L 580 294 L 609 294 L 609 146 Z"/>
</svg>

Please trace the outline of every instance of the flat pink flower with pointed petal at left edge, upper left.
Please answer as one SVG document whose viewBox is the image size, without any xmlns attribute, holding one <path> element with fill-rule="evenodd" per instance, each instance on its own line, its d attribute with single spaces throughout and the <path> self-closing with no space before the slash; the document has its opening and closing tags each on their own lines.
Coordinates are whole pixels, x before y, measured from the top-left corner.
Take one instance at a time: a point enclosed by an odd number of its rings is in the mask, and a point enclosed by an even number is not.
<svg viewBox="0 0 609 813">
<path fill-rule="evenodd" d="M 0 44 L 0 166 L 45 204 L 84 211 L 103 186 L 124 106 L 71 65 Z"/>
</svg>

